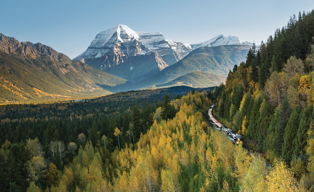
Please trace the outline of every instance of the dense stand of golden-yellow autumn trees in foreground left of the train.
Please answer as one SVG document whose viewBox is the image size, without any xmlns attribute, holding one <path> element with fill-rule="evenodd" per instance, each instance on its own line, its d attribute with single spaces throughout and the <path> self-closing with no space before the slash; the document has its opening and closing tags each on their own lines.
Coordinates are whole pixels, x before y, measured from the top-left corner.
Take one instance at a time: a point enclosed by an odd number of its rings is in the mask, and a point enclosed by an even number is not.
<svg viewBox="0 0 314 192">
<path fill-rule="evenodd" d="M 107 150 L 106 157 L 104 147 L 94 148 L 91 142 L 79 140 L 85 145 L 79 147 L 73 162 L 61 173 L 52 163 L 49 166 L 46 175 L 50 179 L 50 192 L 229 192 L 235 185 L 241 192 L 307 190 L 303 181 L 294 179 L 283 161 L 276 161 L 270 170 L 260 154 L 248 153 L 222 132 L 208 128 L 209 124 L 194 103 L 209 102 L 198 101 L 201 96 L 202 93 L 196 92 L 182 97 L 188 102 L 182 102 L 181 98 L 180 110 L 173 119 L 159 122 L 155 119 L 135 146 L 131 142 L 120 149 Z M 246 123 L 245 116 L 242 121 L 244 134 Z M 118 142 L 122 142 L 122 131 L 115 128 L 114 135 L 118 139 L 121 137 Z M 314 151 L 311 146 L 307 150 L 309 154 Z M 184 183 L 182 178 L 189 176 L 191 180 Z M 36 186 L 32 185 L 31 189 Z"/>
</svg>

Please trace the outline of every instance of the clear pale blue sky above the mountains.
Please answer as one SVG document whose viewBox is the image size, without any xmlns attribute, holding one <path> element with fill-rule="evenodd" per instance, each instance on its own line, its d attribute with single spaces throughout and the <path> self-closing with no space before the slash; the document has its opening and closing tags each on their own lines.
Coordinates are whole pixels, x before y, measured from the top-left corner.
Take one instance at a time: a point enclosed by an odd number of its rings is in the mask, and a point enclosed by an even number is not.
<svg viewBox="0 0 314 192">
<path fill-rule="evenodd" d="M 218 34 L 260 44 L 286 25 L 291 15 L 313 8 L 313 0 L 2 0 L 0 33 L 46 44 L 73 59 L 96 34 L 118 24 L 134 31 L 160 32 L 165 39 L 188 44 Z"/>
</svg>

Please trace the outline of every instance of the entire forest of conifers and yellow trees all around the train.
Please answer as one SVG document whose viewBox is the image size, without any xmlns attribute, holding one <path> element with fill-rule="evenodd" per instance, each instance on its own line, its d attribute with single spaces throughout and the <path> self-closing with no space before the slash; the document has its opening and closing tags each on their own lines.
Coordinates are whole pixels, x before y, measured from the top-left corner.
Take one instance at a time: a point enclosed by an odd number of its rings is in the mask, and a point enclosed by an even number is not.
<svg viewBox="0 0 314 192">
<path fill-rule="evenodd" d="M 314 191 L 314 11 L 293 15 L 214 89 L 0 108 L 0 190 Z M 207 122 L 242 135 L 233 144 Z"/>
</svg>

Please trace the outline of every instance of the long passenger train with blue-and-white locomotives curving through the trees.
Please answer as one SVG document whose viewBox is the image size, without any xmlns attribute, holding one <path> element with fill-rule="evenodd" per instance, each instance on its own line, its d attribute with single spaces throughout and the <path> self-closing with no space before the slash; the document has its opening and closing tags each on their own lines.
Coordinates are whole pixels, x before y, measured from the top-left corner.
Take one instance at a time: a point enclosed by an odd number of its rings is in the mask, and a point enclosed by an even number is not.
<svg viewBox="0 0 314 192">
<path fill-rule="evenodd" d="M 241 135 L 232 131 L 231 129 L 217 121 L 217 119 L 215 119 L 215 117 L 212 114 L 214 106 L 215 105 L 210 106 L 208 110 L 208 120 L 210 122 L 210 127 L 212 127 L 213 129 L 217 129 L 220 132 L 223 132 L 233 143 L 236 144 L 242 143 Z"/>
</svg>

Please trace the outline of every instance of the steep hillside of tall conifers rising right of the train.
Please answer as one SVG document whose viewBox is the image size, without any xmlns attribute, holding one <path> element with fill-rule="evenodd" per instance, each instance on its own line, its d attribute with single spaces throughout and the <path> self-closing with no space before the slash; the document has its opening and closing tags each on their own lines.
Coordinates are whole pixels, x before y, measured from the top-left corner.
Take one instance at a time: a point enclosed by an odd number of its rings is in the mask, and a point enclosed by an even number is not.
<svg viewBox="0 0 314 192">
<path fill-rule="evenodd" d="M 314 190 L 314 10 L 293 15 L 246 62 L 235 65 L 212 97 L 216 116 L 247 148 L 283 158 Z"/>
</svg>

